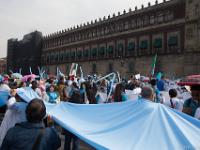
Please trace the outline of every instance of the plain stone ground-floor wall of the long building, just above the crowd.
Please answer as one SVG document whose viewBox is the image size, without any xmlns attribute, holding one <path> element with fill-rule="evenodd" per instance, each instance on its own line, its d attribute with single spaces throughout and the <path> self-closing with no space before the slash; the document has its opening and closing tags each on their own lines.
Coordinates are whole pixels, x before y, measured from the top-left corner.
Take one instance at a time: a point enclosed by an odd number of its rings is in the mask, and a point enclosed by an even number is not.
<svg viewBox="0 0 200 150">
<path fill-rule="evenodd" d="M 107 61 L 80 62 L 85 75 L 97 73 L 101 75 L 112 71 L 118 71 L 122 76 L 128 77 L 131 74 L 140 73 L 150 75 L 153 56 L 144 56 L 138 58 L 112 59 Z M 167 77 L 182 77 L 184 75 L 200 73 L 200 53 L 185 53 L 176 55 L 158 55 L 156 72 L 163 71 Z M 96 70 L 93 70 L 93 65 Z M 58 65 L 60 70 L 68 74 L 71 64 Z M 55 65 L 48 66 L 49 73 L 55 74 Z M 94 72 L 95 71 L 95 72 Z M 78 72 L 78 74 L 80 74 Z"/>
</svg>

